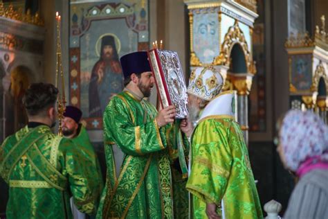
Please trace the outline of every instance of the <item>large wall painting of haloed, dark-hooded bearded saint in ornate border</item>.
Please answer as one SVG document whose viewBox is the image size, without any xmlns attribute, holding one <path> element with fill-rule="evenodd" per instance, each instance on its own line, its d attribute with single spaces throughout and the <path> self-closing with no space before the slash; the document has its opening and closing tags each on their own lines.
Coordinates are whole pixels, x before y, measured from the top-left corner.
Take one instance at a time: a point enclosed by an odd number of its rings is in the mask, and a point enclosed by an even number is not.
<svg viewBox="0 0 328 219">
<path fill-rule="evenodd" d="M 102 129 L 102 114 L 120 91 L 120 57 L 148 49 L 148 1 L 70 3 L 70 98 L 87 129 Z"/>
</svg>

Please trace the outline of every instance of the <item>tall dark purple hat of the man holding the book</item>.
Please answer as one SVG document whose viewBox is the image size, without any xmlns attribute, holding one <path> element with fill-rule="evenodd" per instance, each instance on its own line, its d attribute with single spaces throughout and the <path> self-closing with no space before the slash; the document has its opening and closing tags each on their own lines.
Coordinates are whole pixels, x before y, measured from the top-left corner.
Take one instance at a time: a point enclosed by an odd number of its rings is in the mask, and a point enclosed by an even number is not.
<svg viewBox="0 0 328 219">
<path fill-rule="evenodd" d="M 143 73 L 152 71 L 150 69 L 148 55 L 146 51 L 129 53 L 120 58 L 124 78 L 131 76 L 132 73 Z"/>
</svg>

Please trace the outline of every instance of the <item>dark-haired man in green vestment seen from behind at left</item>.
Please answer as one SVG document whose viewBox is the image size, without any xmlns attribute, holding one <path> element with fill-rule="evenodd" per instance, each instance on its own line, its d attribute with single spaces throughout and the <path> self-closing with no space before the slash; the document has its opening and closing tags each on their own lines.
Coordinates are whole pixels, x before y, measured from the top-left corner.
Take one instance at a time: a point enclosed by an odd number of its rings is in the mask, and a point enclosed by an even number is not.
<svg viewBox="0 0 328 219">
<path fill-rule="evenodd" d="M 0 148 L 0 175 L 9 186 L 6 218 L 72 218 L 71 196 L 80 211 L 96 211 L 91 162 L 71 140 L 51 132 L 57 94 L 51 84 L 30 85 L 24 96 L 28 125 Z"/>
</svg>

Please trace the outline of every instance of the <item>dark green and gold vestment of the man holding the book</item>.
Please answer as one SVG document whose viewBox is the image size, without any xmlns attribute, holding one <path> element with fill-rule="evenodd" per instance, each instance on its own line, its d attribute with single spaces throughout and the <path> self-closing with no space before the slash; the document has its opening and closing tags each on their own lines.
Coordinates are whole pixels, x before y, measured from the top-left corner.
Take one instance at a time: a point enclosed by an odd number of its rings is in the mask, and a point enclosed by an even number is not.
<svg viewBox="0 0 328 219">
<path fill-rule="evenodd" d="M 175 192 L 172 185 L 171 164 L 178 157 L 170 146 L 172 125 L 158 128 L 156 115 L 152 104 L 127 91 L 107 105 L 103 117 L 107 179 L 97 218 L 173 218 L 174 194 L 188 199 L 185 189 Z M 114 145 L 124 154 L 118 177 Z M 185 208 L 188 211 L 187 204 Z"/>
</svg>

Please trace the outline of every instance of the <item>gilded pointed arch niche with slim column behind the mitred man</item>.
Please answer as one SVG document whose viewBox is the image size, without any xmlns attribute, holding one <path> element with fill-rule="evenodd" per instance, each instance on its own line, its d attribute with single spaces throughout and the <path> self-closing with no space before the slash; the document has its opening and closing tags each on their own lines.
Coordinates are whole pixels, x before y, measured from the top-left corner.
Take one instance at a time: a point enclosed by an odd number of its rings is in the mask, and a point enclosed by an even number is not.
<svg viewBox="0 0 328 219">
<path fill-rule="evenodd" d="M 228 28 L 220 55 L 215 58 L 214 64 L 228 69 L 224 90 L 237 90 L 237 119 L 248 143 L 248 94 L 256 69 L 250 46 L 237 20 Z"/>
</svg>

